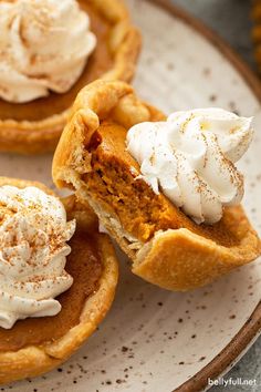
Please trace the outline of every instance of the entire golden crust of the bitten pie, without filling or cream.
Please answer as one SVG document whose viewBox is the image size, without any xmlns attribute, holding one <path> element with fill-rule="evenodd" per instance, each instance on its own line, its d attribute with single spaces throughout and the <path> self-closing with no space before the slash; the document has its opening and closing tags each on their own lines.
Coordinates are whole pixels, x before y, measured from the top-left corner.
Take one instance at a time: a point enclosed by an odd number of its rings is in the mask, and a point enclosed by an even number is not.
<svg viewBox="0 0 261 392">
<path fill-rule="evenodd" d="M 170 290 L 188 290 L 203 286 L 217 277 L 242 266 L 260 255 L 260 240 L 241 206 L 231 208 L 231 230 L 239 244 L 218 245 L 187 228 L 157 231 L 148 243 L 126 240 L 117 217 L 92 197 L 81 175 L 91 172 L 92 151 L 85 146 L 98 128 L 101 118 L 109 118 L 129 128 L 144 121 L 164 118 L 161 112 L 142 102 L 123 82 L 96 81 L 83 89 L 73 106 L 53 159 L 53 179 L 58 187 L 71 187 L 76 197 L 93 207 L 103 225 L 133 261 L 133 272 Z M 137 210 L 138 214 L 138 210 Z"/>
</svg>

